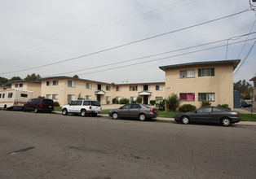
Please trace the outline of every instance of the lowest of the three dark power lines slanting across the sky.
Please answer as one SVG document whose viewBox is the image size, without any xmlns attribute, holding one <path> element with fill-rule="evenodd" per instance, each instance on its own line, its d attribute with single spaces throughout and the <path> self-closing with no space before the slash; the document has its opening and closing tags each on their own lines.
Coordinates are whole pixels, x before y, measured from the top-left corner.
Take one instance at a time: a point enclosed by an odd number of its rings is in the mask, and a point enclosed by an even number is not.
<svg viewBox="0 0 256 179">
<path fill-rule="evenodd" d="M 256 37 L 248 39 L 247 41 L 252 41 L 252 40 L 255 40 L 255 39 L 256 39 Z M 241 42 L 244 42 L 244 41 L 236 41 L 236 42 L 233 42 L 233 43 L 231 43 L 229 45 L 231 46 L 231 45 L 234 45 L 234 44 L 237 44 L 237 43 L 241 43 Z M 174 58 L 174 57 L 178 57 L 178 56 L 182 56 L 182 55 L 190 55 L 190 54 L 194 54 L 194 53 L 197 53 L 197 52 L 201 52 L 201 51 L 205 51 L 205 50 L 212 50 L 212 49 L 216 49 L 216 48 L 223 47 L 223 46 L 227 46 L 227 45 L 214 46 L 214 47 L 210 47 L 210 48 L 203 49 L 203 50 L 195 50 L 195 51 L 191 51 L 191 52 L 187 52 L 187 53 L 183 53 L 183 54 L 179 54 L 179 55 L 172 55 L 172 56 L 164 57 L 164 58 L 161 58 L 161 59 L 170 59 L 170 58 Z M 105 71 L 109 71 L 109 70 L 113 70 L 113 69 L 117 69 L 117 68 L 126 68 L 126 67 L 135 66 L 135 65 L 138 65 L 138 64 L 142 64 L 142 63 L 150 63 L 150 62 L 159 61 L 161 59 L 152 59 L 152 60 L 148 60 L 148 61 L 144 61 L 144 62 L 123 65 L 123 66 L 116 67 L 116 68 L 108 68 L 108 69 L 99 70 L 99 71 L 95 71 L 95 72 L 105 72 Z M 95 72 L 81 73 L 81 74 L 78 74 L 78 76 L 82 76 L 82 75 L 86 75 L 86 74 L 90 74 L 90 73 L 95 73 Z"/>
</svg>

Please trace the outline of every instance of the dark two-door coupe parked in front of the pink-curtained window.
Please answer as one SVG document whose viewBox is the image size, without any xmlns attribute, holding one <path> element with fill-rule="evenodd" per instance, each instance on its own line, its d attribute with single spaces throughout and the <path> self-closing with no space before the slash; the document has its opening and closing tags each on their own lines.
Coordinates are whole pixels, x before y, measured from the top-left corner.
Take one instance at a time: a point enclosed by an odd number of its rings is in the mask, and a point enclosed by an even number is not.
<svg viewBox="0 0 256 179">
<path fill-rule="evenodd" d="M 185 112 L 174 116 L 176 122 L 188 124 L 190 122 L 205 122 L 228 126 L 240 122 L 239 112 L 221 107 L 201 107 L 196 111 Z"/>
</svg>

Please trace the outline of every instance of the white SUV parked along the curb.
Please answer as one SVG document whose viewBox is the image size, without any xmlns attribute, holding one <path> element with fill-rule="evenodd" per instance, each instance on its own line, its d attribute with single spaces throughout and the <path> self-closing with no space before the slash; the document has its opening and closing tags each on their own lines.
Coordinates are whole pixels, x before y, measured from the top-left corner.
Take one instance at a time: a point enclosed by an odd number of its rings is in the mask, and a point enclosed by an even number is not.
<svg viewBox="0 0 256 179">
<path fill-rule="evenodd" d="M 75 100 L 69 105 L 62 107 L 62 114 L 64 116 L 68 115 L 68 113 L 79 114 L 81 116 L 86 116 L 87 114 L 97 116 L 100 112 L 100 103 L 93 100 Z"/>
</svg>

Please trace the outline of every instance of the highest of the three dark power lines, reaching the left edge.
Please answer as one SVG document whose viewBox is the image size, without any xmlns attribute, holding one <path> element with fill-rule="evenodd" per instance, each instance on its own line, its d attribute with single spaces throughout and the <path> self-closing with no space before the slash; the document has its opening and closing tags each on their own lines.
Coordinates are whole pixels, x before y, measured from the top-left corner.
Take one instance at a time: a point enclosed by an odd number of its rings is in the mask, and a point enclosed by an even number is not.
<svg viewBox="0 0 256 179">
<path fill-rule="evenodd" d="M 165 36 L 165 35 L 168 35 L 170 33 L 177 33 L 179 31 L 183 31 L 183 30 L 186 30 L 188 28 L 195 28 L 197 26 L 201 26 L 203 24 L 210 24 L 212 22 L 215 22 L 217 20 L 223 20 L 225 18 L 228 18 L 228 17 L 232 17 L 234 15 L 239 15 L 241 13 L 244 13 L 246 11 L 251 11 L 249 9 L 246 9 L 244 11 L 240 11 L 240 12 L 236 12 L 235 14 L 232 14 L 232 15 L 226 15 L 226 16 L 223 16 L 223 17 L 220 17 L 220 18 L 217 18 L 217 19 L 214 19 L 214 20 L 209 20 L 209 21 L 206 21 L 204 23 L 200 23 L 200 24 L 194 24 L 194 25 L 191 25 L 191 26 L 188 26 L 186 28 L 179 28 L 177 30 L 173 30 L 173 31 L 170 31 L 170 32 L 167 32 L 167 33 L 161 33 L 161 34 L 158 34 L 156 36 L 152 36 L 152 37 L 147 37 L 147 38 L 143 38 L 143 39 L 140 39 L 138 41 L 131 41 L 129 43 L 126 43 L 126 44 L 122 44 L 122 45 L 119 45 L 119 46 L 113 46 L 113 47 L 110 47 L 108 49 L 104 49 L 104 50 L 99 50 L 99 51 L 96 51 L 96 52 L 93 52 L 93 53 L 90 53 L 90 54 L 87 54 L 87 55 L 81 55 L 81 56 L 77 56 L 77 57 L 74 57 L 74 58 L 71 58 L 71 59 L 64 59 L 64 60 L 61 60 L 61 61 L 58 61 L 58 62 L 55 62 L 55 63 L 48 63 L 48 64 L 45 64 L 45 65 L 41 65 L 41 66 L 38 66 L 38 67 L 33 67 L 33 68 L 25 68 L 25 69 L 22 69 L 22 70 L 16 70 L 16 71 L 12 71 L 12 72 L 24 72 L 24 71 L 28 71 L 28 70 L 32 70 L 32 69 L 37 69 L 37 68 L 43 68 L 43 67 L 47 67 L 47 66 L 51 66 L 51 65 L 55 65 L 55 64 L 58 64 L 58 63 L 65 63 L 65 62 L 68 62 L 68 61 L 71 61 L 71 60 L 74 60 L 74 59 L 81 59 L 83 57 L 87 57 L 87 56 L 90 56 L 90 55 L 96 55 L 96 54 L 99 54 L 99 53 L 102 53 L 102 52 L 105 52 L 105 51 L 108 51 L 108 50 L 114 50 L 114 49 L 117 49 L 117 48 L 120 48 L 120 47 L 123 47 L 123 46 L 130 46 L 132 44 L 135 44 L 135 43 L 138 43 L 138 42 L 141 42 L 141 41 L 148 41 L 152 38 L 157 38 L 157 37 L 161 37 L 161 36 Z M 8 73 L 12 73 L 12 72 L 1 72 L 0 74 L 8 74 Z"/>
</svg>

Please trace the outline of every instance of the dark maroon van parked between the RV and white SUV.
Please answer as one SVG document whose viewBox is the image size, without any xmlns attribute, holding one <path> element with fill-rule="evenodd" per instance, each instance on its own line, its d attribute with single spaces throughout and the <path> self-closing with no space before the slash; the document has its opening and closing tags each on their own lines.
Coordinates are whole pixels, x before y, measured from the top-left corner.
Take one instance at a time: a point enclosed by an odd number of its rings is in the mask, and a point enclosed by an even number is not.
<svg viewBox="0 0 256 179">
<path fill-rule="evenodd" d="M 27 103 L 24 104 L 23 111 L 54 111 L 54 102 L 49 98 L 31 98 Z"/>
</svg>

